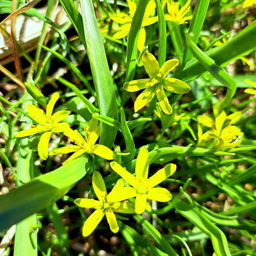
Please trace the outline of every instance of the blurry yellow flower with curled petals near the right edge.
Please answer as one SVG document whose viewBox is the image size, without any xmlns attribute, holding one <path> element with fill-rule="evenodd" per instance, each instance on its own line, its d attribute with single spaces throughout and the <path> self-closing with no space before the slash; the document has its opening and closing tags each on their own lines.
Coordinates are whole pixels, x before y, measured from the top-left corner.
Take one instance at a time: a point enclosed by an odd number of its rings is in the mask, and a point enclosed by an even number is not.
<svg viewBox="0 0 256 256">
<path fill-rule="evenodd" d="M 212 129 L 202 134 L 202 129 L 200 128 L 198 146 L 207 146 L 214 150 L 235 148 L 238 146 L 242 141 L 243 133 L 239 128 L 231 124 L 238 121 L 241 116 L 242 114 L 240 112 L 226 116 L 226 113 L 221 111 L 214 122 L 209 116 L 199 115 L 197 117 L 198 121 Z M 214 140 L 210 144 L 206 144 L 205 142 L 209 142 L 211 138 Z"/>
</svg>

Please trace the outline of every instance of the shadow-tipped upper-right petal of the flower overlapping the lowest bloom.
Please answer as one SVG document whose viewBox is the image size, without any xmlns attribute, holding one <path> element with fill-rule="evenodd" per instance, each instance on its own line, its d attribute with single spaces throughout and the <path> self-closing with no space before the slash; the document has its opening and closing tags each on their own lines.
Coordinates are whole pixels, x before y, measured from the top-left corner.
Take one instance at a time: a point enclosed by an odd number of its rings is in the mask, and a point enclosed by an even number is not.
<svg viewBox="0 0 256 256">
<path fill-rule="evenodd" d="M 174 174 L 175 171 L 176 164 L 167 164 L 166 166 L 164 166 L 164 168 L 156 172 L 148 179 L 149 183 L 147 191 L 149 191 L 151 188 L 154 188 L 154 186 L 158 185 L 159 183 L 163 182 L 166 178 Z"/>
</svg>

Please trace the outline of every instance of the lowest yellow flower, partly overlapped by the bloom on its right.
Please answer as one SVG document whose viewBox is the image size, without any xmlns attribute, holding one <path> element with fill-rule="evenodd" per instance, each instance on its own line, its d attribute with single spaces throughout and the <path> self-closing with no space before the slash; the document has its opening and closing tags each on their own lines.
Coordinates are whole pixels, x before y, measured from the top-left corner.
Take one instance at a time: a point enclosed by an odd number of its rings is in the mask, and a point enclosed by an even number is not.
<svg viewBox="0 0 256 256">
<path fill-rule="evenodd" d="M 111 193 L 116 193 L 115 191 L 118 188 L 124 187 L 124 185 L 125 181 L 123 179 L 118 180 Z M 118 232 L 119 227 L 114 212 L 134 213 L 134 204 L 127 202 L 113 203 L 108 200 L 104 180 L 97 171 L 94 171 L 92 174 L 92 186 L 99 200 L 88 198 L 77 198 L 74 200 L 74 203 L 80 207 L 96 209 L 96 211 L 93 212 L 84 223 L 82 231 L 83 236 L 89 236 L 98 226 L 105 214 L 111 231 L 114 233 Z"/>
</svg>

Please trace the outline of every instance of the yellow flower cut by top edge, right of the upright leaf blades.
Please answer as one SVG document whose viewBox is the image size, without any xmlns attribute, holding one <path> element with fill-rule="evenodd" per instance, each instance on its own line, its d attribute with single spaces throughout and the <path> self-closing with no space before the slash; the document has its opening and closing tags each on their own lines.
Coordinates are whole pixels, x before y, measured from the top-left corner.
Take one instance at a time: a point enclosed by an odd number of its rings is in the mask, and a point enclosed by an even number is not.
<svg viewBox="0 0 256 256">
<path fill-rule="evenodd" d="M 175 25 L 180 25 L 186 23 L 186 20 L 191 20 L 192 16 L 184 17 L 189 12 L 189 4 L 191 0 L 188 0 L 186 4 L 180 8 L 180 2 L 173 2 L 173 0 L 168 0 L 167 10 L 169 14 L 165 14 L 165 20 L 170 20 L 174 22 Z"/>
</svg>

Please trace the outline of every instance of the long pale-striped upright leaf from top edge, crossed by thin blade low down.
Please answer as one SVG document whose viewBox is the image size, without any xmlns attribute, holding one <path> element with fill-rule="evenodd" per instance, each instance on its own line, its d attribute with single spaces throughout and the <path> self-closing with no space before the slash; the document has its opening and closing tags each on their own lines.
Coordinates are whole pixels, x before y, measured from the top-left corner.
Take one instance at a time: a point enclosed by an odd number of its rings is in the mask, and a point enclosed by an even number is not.
<svg viewBox="0 0 256 256">
<path fill-rule="evenodd" d="M 92 0 L 81 0 L 80 5 L 87 46 L 86 53 L 92 70 L 100 114 L 118 120 L 116 94 Z M 111 148 L 116 138 L 116 132 L 117 129 L 115 127 L 102 123 L 100 144 Z"/>
</svg>

